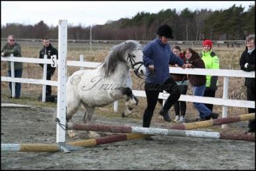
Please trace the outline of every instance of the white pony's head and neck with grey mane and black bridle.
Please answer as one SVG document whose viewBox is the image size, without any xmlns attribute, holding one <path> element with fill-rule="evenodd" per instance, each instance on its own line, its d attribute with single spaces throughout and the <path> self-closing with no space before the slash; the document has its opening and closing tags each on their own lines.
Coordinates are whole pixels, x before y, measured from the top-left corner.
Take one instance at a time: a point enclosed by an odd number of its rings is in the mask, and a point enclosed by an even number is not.
<svg viewBox="0 0 256 171">
<path fill-rule="evenodd" d="M 106 76 L 112 75 L 118 62 L 127 64 L 137 75 L 144 75 L 145 73 L 143 51 L 138 41 L 127 40 L 113 46 L 102 65 L 102 72 Z"/>
</svg>

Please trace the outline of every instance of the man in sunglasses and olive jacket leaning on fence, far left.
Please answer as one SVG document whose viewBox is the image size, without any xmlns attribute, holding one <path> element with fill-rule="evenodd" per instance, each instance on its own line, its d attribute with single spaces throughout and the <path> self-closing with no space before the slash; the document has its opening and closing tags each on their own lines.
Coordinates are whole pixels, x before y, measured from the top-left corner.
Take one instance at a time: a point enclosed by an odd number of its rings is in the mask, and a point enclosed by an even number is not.
<svg viewBox="0 0 256 171">
<path fill-rule="evenodd" d="M 18 43 L 15 41 L 15 36 L 9 35 L 7 37 L 7 43 L 3 47 L 1 51 L 1 57 L 9 57 L 11 53 L 13 53 L 14 57 L 21 57 L 21 47 Z M 15 78 L 21 78 L 22 76 L 22 69 L 23 64 L 22 62 L 14 62 L 15 63 Z M 11 77 L 11 62 L 8 61 L 8 76 Z M 12 83 L 9 82 L 9 87 L 11 89 L 11 97 L 12 97 Z M 20 91 L 21 91 L 21 84 L 19 82 L 15 82 L 15 99 L 20 98 Z"/>
</svg>

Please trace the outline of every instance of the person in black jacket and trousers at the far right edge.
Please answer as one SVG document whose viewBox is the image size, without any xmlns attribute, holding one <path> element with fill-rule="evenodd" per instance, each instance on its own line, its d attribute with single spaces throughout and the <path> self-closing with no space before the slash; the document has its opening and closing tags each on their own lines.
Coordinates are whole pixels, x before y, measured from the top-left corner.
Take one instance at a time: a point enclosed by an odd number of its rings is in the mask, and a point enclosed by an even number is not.
<svg viewBox="0 0 256 171">
<path fill-rule="evenodd" d="M 255 71 L 255 35 L 246 37 L 245 51 L 241 54 L 240 68 L 246 72 Z M 247 87 L 247 101 L 255 101 L 255 78 L 245 78 Z M 254 108 L 248 108 L 249 113 L 255 112 Z M 255 132 L 255 119 L 249 120 L 248 132 Z"/>
</svg>

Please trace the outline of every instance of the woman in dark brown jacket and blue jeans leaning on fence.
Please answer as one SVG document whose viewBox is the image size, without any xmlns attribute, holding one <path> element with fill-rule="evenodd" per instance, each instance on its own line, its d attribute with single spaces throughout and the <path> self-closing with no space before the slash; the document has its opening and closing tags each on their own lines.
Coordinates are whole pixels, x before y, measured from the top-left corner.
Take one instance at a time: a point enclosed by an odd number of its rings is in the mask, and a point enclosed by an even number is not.
<svg viewBox="0 0 256 171">
<path fill-rule="evenodd" d="M 185 49 L 185 58 L 188 60 L 186 68 L 205 68 L 203 60 L 199 57 L 199 54 L 190 47 Z M 203 96 L 205 92 L 205 85 L 207 82 L 206 76 L 201 75 L 189 75 L 189 82 L 193 88 L 193 95 Z M 195 108 L 199 111 L 200 121 L 210 120 L 218 118 L 218 114 L 211 112 L 203 103 L 193 103 Z"/>
</svg>

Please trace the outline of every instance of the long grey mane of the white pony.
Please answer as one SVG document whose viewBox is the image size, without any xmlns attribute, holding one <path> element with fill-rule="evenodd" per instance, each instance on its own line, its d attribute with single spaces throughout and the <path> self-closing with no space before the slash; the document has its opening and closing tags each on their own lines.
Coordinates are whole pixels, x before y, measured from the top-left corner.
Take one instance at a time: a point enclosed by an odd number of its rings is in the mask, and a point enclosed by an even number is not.
<svg viewBox="0 0 256 171">
<path fill-rule="evenodd" d="M 100 68 L 100 72 L 105 76 L 111 76 L 115 72 L 118 62 L 127 62 L 125 53 L 131 53 L 139 48 L 141 48 L 141 45 L 134 40 L 127 40 L 113 46 L 108 52 L 108 55 Z"/>
</svg>

